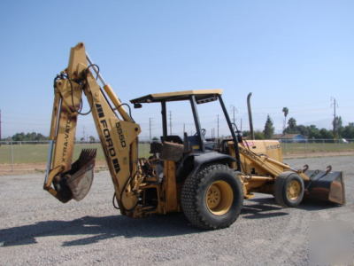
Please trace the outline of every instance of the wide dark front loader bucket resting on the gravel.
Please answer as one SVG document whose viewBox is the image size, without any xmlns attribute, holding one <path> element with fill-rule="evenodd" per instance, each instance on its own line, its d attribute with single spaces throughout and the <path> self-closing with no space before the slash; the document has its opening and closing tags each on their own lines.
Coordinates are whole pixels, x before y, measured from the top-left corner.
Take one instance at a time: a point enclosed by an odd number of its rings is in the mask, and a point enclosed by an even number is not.
<svg viewBox="0 0 354 266">
<path fill-rule="evenodd" d="M 310 181 L 305 181 L 305 198 L 312 200 L 324 200 L 335 204 L 345 204 L 344 182 L 342 172 L 308 170 L 306 175 Z"/>
</svg>

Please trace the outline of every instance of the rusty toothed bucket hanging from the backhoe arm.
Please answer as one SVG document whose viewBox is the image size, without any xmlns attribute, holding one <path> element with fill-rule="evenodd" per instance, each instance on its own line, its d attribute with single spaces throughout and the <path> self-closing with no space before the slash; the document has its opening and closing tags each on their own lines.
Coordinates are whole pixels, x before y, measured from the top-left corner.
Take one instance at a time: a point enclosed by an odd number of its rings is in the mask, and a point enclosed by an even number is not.
<svg viewBox="0 0 354 266">
<path fill-rule="evenodd" d="M 94 179 L 95 159 L 96 149 L 82 150 L 79 159 L 65 174 L 66 184 L 72 192 L 74 200 L 82 200 L 89 193 Z"/>
</svg>

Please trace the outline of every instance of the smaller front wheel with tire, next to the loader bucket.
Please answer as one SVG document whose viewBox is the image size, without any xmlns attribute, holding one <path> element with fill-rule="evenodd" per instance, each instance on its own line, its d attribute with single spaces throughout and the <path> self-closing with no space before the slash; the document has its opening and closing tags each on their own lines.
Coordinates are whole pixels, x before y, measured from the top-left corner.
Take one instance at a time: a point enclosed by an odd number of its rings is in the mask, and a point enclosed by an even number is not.
<svg viewBox="0 0 354 266">
<path fill-rule="evenodd" d="M 294 172 L 284 172 L 275 179 L 275 201 L 282 207 L 297 207 L 304 199 L 304 180 Z"/>
</svg>

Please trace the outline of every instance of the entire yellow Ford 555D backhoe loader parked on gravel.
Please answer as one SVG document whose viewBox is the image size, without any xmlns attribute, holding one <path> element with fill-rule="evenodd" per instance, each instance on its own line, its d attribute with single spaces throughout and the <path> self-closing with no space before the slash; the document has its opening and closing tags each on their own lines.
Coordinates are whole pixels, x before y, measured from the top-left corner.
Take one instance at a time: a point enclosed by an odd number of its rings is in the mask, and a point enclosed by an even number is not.
<svg viewBox="0 0 354 266">
<path fill-rule="evenodd" d="M 101 86 L 99 85 L 101 82 Z M 73 162 L 82 93 L 96 124 L 114 186 L 113 203 L 122 215 L 183 212 L 190 223 L 203 229 L 225 228 L 234 223 L 244 199 L 254 192 L 273 194 L 284 207 L 298 206 L 304 197 L 345 202 L 342 172 L 294 169 L 282 162 L 281 145 L 274 140 L 244 140 L 230 121 L 222 90 L 187 90 L 149 94 L 130 102 L 135 107 L 158 103 L 162 113 L 161 141 L 150 145 L 151 156 L 138 156 L 141 132 L 131 114 L 83 43 L 71 49 L 69 65 L 54 80 L 54 106 L 44 189 L 62 202 L 82 200 L 92 184 L 96 150 L 83 150 Z M 188 101 L 196 134 L 167 134 L 166 104 Z M 219 101 L 230 138 L 206 139 L 197 105 Z M 128 111 L 127 111 L 128 110 Z"/>
</svg>

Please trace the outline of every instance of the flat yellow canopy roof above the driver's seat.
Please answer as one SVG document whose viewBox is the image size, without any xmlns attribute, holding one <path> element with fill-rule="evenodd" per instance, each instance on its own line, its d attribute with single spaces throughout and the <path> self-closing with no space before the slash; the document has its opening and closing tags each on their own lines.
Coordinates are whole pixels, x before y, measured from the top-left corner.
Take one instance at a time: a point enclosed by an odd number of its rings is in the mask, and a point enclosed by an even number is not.
<svg viewBox="0 0 354 266">
<path fill-rule="evenodd" d="M 162 101 L 183 101 L 189 100 L 190 96 L 196 96 L 196 102 L 203 103 L 204 101 L 213 101 L 218 95 L 222 94 L 222 90 L 183 90 L 175 92 L 154 93 L 148 94 L 141 98 L 130 100 L 132 104 L 157 103 Z"/>
</svg>

